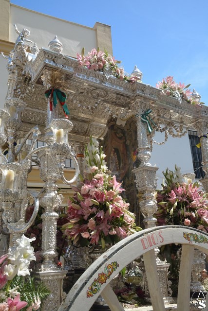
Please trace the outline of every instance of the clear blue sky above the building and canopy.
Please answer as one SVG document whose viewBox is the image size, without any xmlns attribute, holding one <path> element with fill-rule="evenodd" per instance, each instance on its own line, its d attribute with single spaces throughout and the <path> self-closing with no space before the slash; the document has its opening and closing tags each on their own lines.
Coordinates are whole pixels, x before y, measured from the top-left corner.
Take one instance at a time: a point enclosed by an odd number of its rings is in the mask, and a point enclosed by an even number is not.
<svg viewBox="0 0 208 311">
<path fill-rule="evenodd" d="M 143 82 L 155 86 L 171 75 L 191 84 L 208 105 L 208 1 L 188 0 L 11 0 L 54 17 L 93 27 L 111 26 L 113 56 Z"/>
</svg>

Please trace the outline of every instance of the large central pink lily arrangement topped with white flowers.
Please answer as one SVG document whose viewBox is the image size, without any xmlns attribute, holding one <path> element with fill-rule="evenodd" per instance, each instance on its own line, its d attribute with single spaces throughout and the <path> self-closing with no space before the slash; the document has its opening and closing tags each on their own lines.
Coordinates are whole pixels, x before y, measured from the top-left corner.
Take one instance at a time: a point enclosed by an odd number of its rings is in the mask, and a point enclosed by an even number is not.
<svg viewBox="0 0 208 311">
<path fill-rule="evenodd" d="M 111 176 L 102 147 L 95 138 L 85 149 L 85 177 L 80 189 L 70 198 L 65 235 L 76 245 L 112 244 L 136 232 L 134 215 L 122 198 L 121 183 Z"/>
</svg>

